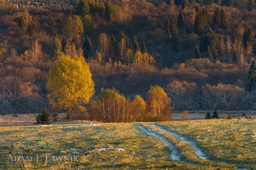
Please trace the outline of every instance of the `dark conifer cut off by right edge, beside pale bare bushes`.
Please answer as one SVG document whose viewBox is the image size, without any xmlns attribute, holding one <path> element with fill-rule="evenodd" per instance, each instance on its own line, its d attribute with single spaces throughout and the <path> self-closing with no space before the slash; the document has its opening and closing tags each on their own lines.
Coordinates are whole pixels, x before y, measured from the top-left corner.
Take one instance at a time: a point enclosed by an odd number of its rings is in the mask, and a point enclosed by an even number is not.
<svg viewBox="0 0 256 170">
<path fill-rule="evenodd" d="M 256 89 L 256 66 L 255 60 L 252 61 L 249 72 L 248 72 L 248 82 L 246 84 L 247 91 L 252 91 Z"/>
</svg>

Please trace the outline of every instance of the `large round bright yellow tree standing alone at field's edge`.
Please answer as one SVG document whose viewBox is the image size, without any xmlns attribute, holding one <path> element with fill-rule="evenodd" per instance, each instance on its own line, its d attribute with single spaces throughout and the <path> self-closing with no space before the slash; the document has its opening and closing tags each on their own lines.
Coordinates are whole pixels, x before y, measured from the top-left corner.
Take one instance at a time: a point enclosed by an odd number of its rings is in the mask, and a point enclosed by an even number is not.
<svg viewBox="0 0 256 170">
<path fill-rule="evenodd" d="M 71 118 L 72 110 L 83 107 L 95 93 L 90 68 L 83 56 L 62 55 L 50 68 L 46 87 L 52 108 L 60 106 Z"/>
</svg>

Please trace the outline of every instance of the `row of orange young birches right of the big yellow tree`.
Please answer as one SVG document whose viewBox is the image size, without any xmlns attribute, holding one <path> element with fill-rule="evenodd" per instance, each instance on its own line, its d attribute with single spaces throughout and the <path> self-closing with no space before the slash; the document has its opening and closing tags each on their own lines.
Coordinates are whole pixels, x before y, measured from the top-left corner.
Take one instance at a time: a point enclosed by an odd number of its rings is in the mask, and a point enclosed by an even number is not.
<svg viewBox="0 0 256 170">
<path fill-rule="evenodd" d="M 171 99 L 159 86 L 151 87 L 146 101 L 139 95 L 131 101 L 115 89 L 102 89 L 89 109 L 90 119 L 101 122 L 170 121 L 171 113 Z"/>
</svg>

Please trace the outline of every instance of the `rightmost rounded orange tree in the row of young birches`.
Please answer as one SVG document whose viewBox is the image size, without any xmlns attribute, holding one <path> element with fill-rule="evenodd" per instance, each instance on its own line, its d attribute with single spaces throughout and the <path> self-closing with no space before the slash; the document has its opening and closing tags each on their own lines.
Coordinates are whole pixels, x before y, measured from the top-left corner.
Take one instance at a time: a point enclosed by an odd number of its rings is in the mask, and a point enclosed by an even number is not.
<svg viewBox="0 0 256 170">
<path fill-rule="evenodd" d="M 154 86 L 147 92 L 147 111 L 152 122 L 172 119 L 171 99 L 166 95 L 163 88 Z"/>
</svg>

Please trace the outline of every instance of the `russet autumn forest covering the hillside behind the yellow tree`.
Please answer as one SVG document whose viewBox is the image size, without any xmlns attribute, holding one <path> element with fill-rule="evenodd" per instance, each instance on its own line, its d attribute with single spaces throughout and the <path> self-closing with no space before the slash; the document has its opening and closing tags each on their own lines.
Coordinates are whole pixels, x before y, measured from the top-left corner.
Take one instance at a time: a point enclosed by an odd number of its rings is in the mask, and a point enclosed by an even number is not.
<svg viewBox="0 0 256 170">
<path fill-rule="evenodd" d="M 255 110 L 255 18 L 254 0 L 80 0 L 74 8 L 6 3 L 0 6 L 0 112 L 52 107 L 48 77 L 63 55 L 71 58 L 63 62 L 90 68 L 95 90 L 84 106 L 93 120 L 103 119 L 103 110 L 112 122 L 129 122 L 131 115 L 140 121 L 132 109 L 155 113 L 144 121 L 158 121 L 166 110 Z M 159 107 L 165 111 L 152 106 L 155 88 L 171 102 Z"/>
</svg>

